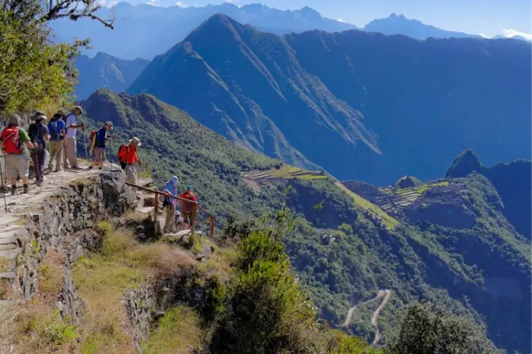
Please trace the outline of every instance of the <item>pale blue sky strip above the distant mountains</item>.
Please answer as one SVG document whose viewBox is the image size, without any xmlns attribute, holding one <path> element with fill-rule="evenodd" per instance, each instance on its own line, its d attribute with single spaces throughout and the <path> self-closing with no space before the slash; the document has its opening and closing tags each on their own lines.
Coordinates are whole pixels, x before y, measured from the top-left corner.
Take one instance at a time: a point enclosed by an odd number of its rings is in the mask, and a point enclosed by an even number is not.
<svg viewBox="0 0 532 354">
<path fill-rule="evenodd" d="M 148 2 L 126 0 L 131 3 Z M 150 0 L 170 6 L 205 6 L 221 4 L 216 0 Z M 406 18 L 416 18 L 423 23 L 445 30 L 465 33 L 509 35 L 526 33 L 532 35 L 531 0 L 228 0 L 244 5 L 260 2 L 280 9 L 298 9 L 309 6 L 322 16 L 353 23 L 363 27 L 374 18 L 383 18 L 390 13 L 402 13 Z M 514 31 L 514 32 L 512 32 Z"/>
</svg>

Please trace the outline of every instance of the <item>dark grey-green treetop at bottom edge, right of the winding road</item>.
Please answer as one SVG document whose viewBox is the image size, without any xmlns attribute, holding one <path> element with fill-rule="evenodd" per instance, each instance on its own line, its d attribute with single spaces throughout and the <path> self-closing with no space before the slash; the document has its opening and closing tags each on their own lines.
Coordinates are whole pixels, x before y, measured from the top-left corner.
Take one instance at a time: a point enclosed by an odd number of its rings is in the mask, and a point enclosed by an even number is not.
<svg viewBox="0 0 532 354">
<path fill-rule="evenodd" d="M 390 354 L 498 353 L 484 333 L 470 321 L 445 314 L 429 304 L 416 303 L 406 309 Z"/>
</svg>

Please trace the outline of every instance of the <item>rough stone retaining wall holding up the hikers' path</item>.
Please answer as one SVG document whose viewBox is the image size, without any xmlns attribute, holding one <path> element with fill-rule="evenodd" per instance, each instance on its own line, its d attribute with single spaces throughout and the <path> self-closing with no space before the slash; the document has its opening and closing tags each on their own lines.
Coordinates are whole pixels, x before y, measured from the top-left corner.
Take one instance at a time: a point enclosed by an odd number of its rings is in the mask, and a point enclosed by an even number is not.
<svg viewBox="0 0 532 354">
<path fill-rule="evenodd" d="M 72 181 L 58 188 L 57 194 L 43 200 L 38 212 L 31 214 L 27 224 L 30 239 L 18 256 L 14 287 L 28 301 L 38 289 L 38 267 L 49 249 L 66 256 L 65 304 L 77 301 L 70 278 L 70 265 L 90 249 L 98 236 L 92 228 L 101 221 L 120 217 L 135 206 L 136 194 L 124 184 L 121 171 L 101 173 L 97 177 Z M 61 306 L 61 304 L 60 304 Z M 77 312 L 67 306 L 65 312 Z"/>
</svg>

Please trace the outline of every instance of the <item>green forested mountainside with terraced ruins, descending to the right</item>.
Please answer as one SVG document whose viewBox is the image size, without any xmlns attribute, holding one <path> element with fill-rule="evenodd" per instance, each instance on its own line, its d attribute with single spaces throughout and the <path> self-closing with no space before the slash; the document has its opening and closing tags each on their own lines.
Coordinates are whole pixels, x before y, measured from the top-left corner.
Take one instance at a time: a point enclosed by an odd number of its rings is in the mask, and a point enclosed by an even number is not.
<svg viewBox="0 0 532 354">
<path fill-rule="evenodd" d="M 158 185 L 173 174 L 182 185 L 192 183 L 218 227 L 231 214 L 250 219 L 286 202 L 297 215 L 296 230 L 285 239 L 292 265 L 321 316 L 334 326 L 343 324 L 353 305 L 391 290 L 378 319 L 381 343 L 405 304 L 428 299 L 487 326 L 501 348 L 530 346 L 530 246 L 501 215 L 497 190 L 483 176 L 418 181 L 421 197 L 411 205 L 413 214 L 383 221 L 373 212 L 379 210 L 377 200 L 365 192 L 379 188 L 346 193 L 326 174 L 236 147 L 152 96 L 102 89 L 82 105 L 91 126 L 104 119 L 114 122 L 116 143 L 140 137 L 144 167 L 153 171 Z M 111 159 L 117 147 L 110 146 Z M 406 190 L 391 193 L 409 195 Z M 458 207 L 449 203 L 453 200 Z M 416 214 L 421 201 L 450 212 L 465 210 L 471 224 Z M 364 313 L 355 312 L 345 330 L 372 341 L 375 328 Z"/>
</svg>

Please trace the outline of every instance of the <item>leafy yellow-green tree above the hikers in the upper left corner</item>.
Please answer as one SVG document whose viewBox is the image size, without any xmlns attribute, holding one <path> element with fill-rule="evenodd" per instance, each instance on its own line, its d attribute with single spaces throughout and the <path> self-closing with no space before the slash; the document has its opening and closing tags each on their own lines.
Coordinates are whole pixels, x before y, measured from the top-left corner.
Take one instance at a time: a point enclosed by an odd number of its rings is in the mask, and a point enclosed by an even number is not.
<svg viewBox="0 0 532 354">
<path fill-rule="evenodd" d="M 99 8 L 96 0 L 0 0 L 0 115 L 70 101 L 73 59 L 89 40 L 54 45 L 48 21 L 92 18 L 113 28 L 113 18 L 97 16 Z"/>
</svg>

